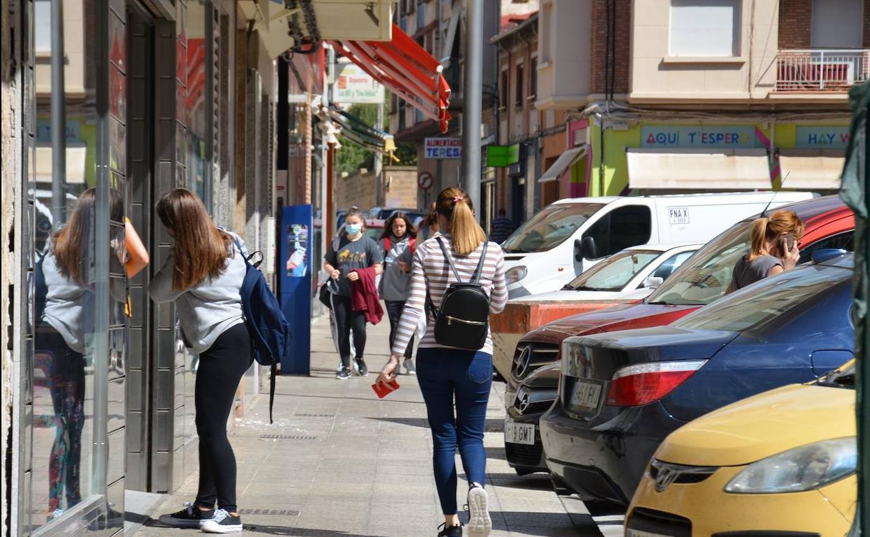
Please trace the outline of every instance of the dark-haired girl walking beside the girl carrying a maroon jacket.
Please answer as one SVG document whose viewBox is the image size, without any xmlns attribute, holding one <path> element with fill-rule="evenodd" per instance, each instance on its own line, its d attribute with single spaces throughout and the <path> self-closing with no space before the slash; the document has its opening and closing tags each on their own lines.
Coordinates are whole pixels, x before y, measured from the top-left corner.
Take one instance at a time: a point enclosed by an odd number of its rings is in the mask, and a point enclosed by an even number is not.
<svg viewBox="0 0 870 537">
<path fill-rule="evenodd" d="M 381 235 L 380 251 L 384 252 L 384 275 L 381 277 L 380 296 L 386 304 L 390 318 L 390 348 L 396 339 L 398 319 L 411 293 L 411 262 L 417 246 L 417 231 L 404 212 L 396 212 L 387 218 L 384 234 Z M 405 348 L 405 373 L 416 375 L 412 352 L 414 340 Z M 398 367 L 396 372 L 398 373 Z"/>
</svg>

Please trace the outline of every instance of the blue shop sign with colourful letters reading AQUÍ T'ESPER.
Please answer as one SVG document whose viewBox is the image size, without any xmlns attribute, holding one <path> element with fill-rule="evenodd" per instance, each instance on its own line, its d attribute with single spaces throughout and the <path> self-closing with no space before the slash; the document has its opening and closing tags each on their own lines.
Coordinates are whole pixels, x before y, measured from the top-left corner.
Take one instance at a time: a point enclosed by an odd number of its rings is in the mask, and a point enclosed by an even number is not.
<svg viewBox="0 0 870 537">
<path fill-rule="evenodd" d="M 753 125 L 644 125 L 641 147 L 760 147 Z"/>
</svg>

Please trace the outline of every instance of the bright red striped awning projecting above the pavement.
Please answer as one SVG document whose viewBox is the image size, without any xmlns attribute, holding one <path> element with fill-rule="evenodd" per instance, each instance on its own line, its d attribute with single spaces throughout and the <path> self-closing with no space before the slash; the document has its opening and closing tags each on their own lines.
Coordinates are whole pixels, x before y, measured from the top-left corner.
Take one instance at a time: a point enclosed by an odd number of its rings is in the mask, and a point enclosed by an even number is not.
<svg viewBox="0 0 870 537">
<path fill-rule="evenodd" d="M 441 76 L 441 64 L 397 25 L 392 25 L 391 41 L 330 43 L 425 117 L 437 120 L 442 132 L 447 131 L 450 84 Z"/>
</svg>

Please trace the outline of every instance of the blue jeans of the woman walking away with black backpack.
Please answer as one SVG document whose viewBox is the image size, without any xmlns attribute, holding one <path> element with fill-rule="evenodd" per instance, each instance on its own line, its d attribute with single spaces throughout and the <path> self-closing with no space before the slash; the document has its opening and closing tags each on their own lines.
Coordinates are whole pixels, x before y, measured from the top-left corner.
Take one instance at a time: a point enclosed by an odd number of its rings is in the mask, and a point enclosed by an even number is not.
<svg viewBox="0 0 870 537">
<path fill-rule="evenodd" d="M 481 486 L 485 482 L 484 424 L 492 387 L 492 354 L 419 349 L 417 379 L 432 429 L 432 467 L 441 509 L 445 515 L 457 514 L 457 446 L 468 482 Z"/>
</svg>

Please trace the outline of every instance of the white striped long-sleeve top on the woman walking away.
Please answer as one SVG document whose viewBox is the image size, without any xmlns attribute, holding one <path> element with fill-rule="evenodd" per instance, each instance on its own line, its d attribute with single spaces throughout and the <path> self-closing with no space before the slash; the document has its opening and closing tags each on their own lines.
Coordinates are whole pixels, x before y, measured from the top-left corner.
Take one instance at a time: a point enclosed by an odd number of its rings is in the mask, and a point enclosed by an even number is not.
<svg viewBox="0 0 870 537">
<path fill-rule="evenodd" d="M 478 249 L 468 256 L 460 256 L 453 251 L 450 235 L 442 235 L 441 238 L 444 240 L 447 252 L 450 252 L 453 265 L 456 266 L 462 281 L 471 280 L 483 252 L 483 245 L 479 245 Z M 450 270 L 450 265 L 447 264 L 438 241 L 435 238 L 430 238 L 419 245 L 412 262 L 411 293 L 405 302 L 405 309 L 402 310 L 402 318 L 398 323 L 392 352 L 397 354 L 405 352 L 414 331 L 417 329 L 418 319 L 425 314 L 426 290 L 429 291 L 432 303 L 438 309 L 441 307 L 441 301 L 444 299 L 447 287 L 454 283 L 456 283 L 456 275 Z M 483 285 L 485 292 L 490 296 L 490 312 L 498 313 L 504 310 L 507 302 L 505 258 L 499 245 L 492 242 L 486 247 L 486 258 L 480 276 L 480 285 Z M 434 324 L 435 319 L 430 319 L 429 325 L 426 326 L 425 336 L 420 340 L 420 347 L 450 348 L 438 345 L 435 341 Z M 486 344 L 480 351 L 492 354 L 490 334 L 486 334 Z"/>
</svg>

